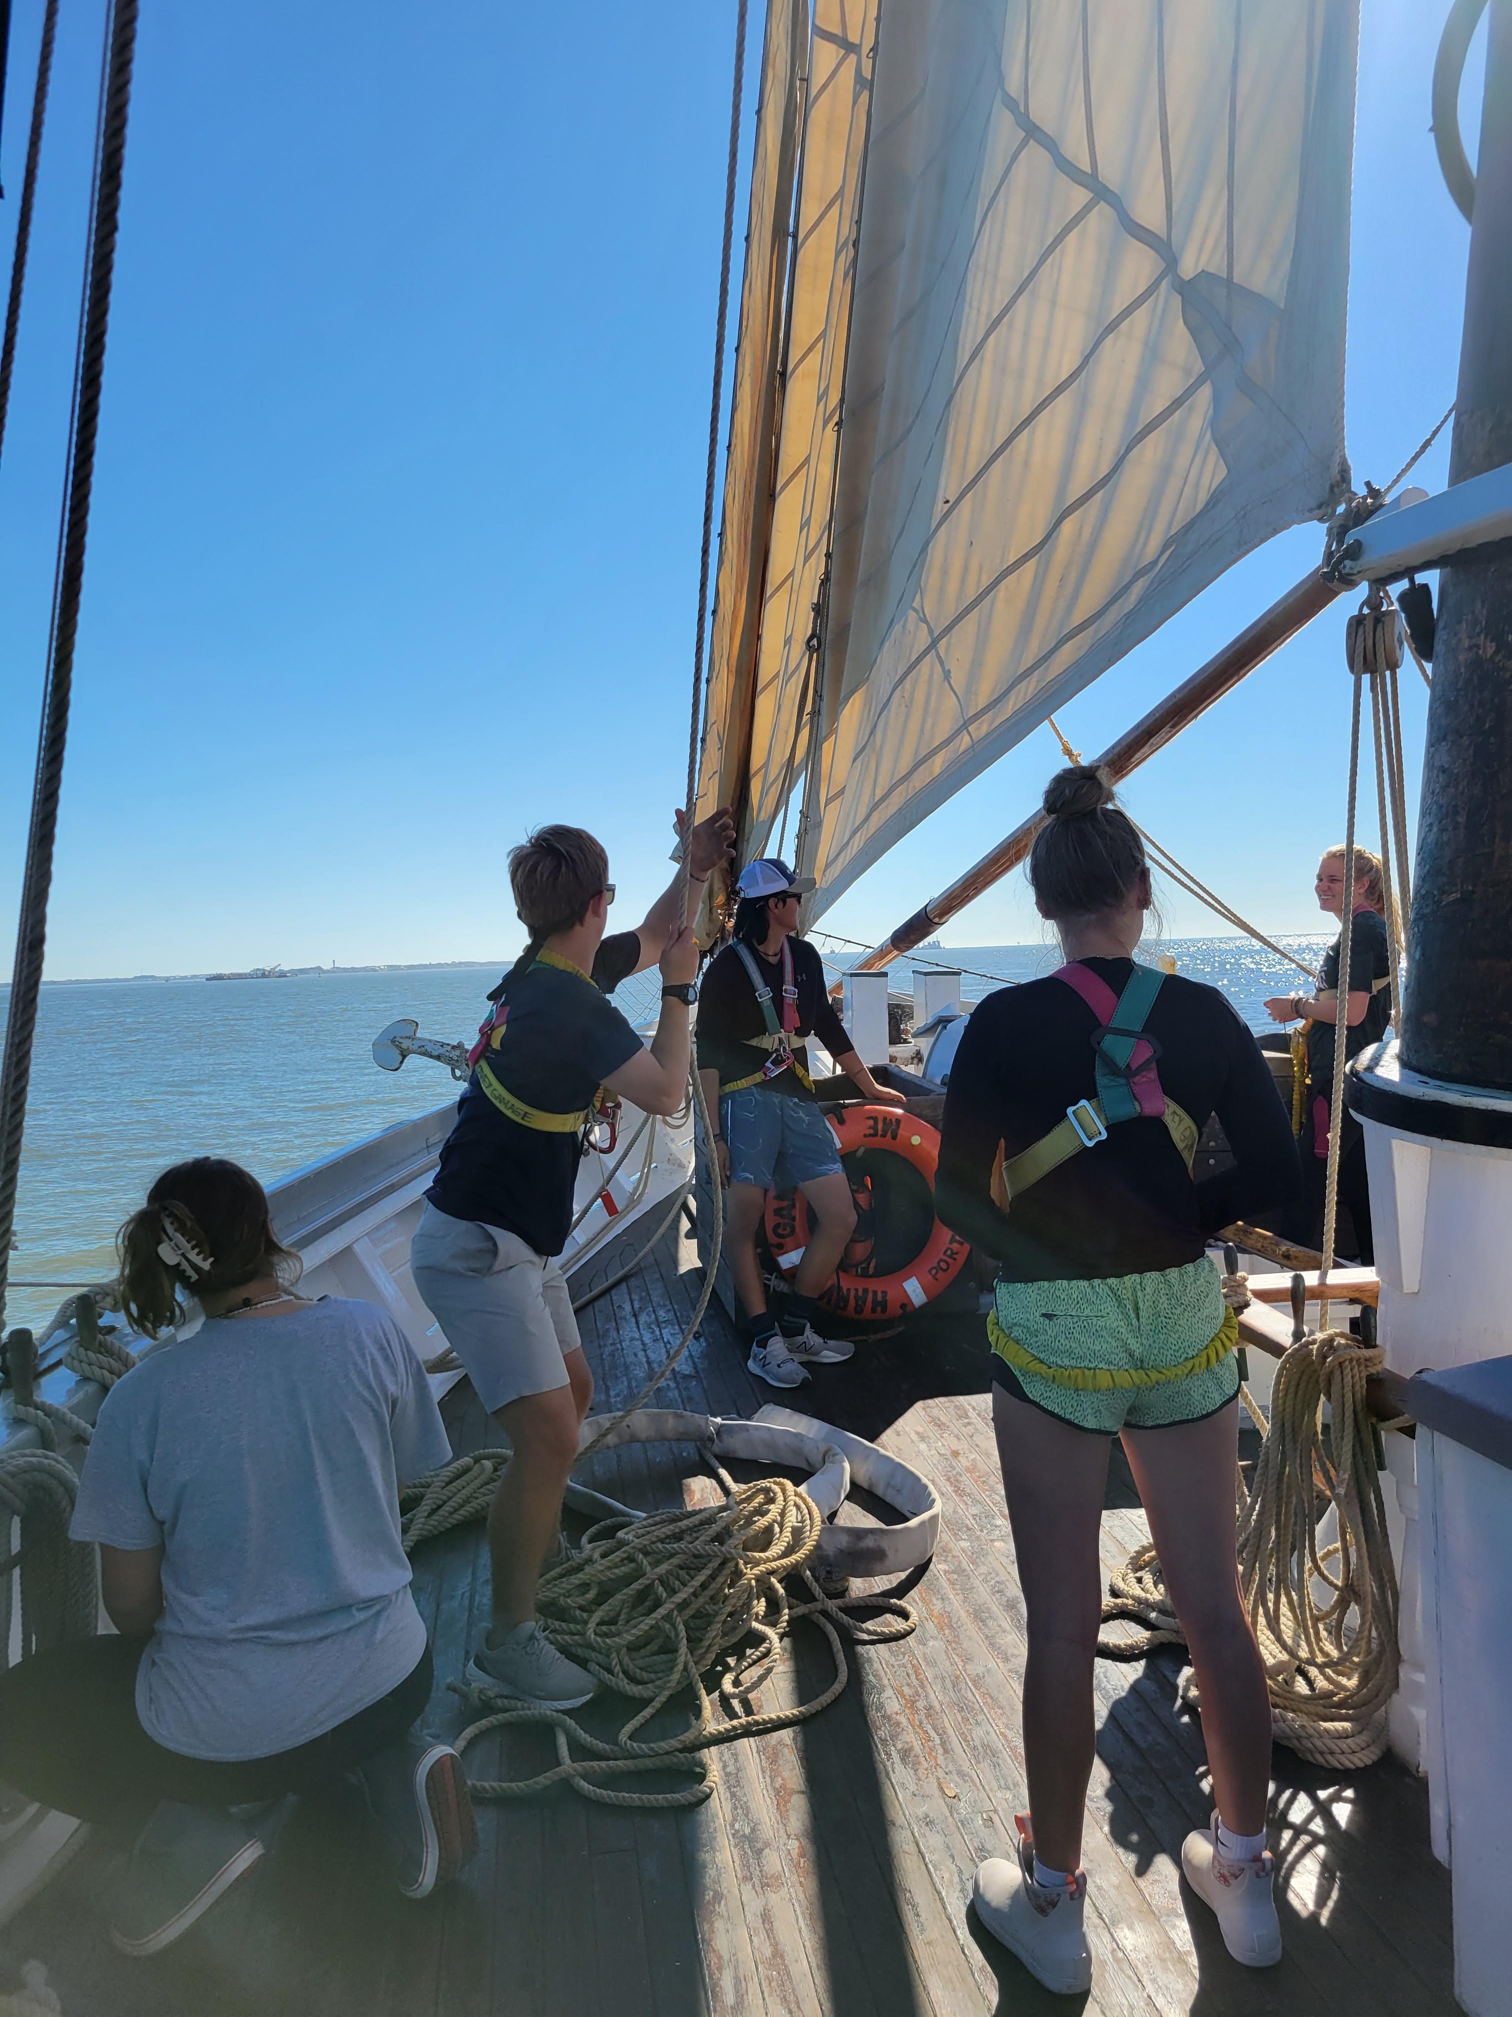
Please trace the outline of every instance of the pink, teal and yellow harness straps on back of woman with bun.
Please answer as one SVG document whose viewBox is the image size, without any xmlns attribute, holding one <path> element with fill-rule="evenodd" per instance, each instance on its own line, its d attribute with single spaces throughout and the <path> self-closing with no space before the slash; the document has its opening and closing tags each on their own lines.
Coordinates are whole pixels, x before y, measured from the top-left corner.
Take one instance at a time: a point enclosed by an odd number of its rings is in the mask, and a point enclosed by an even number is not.
<svg viewBox="0 0 1512 2017">
<path fill-rule="evenodd" d="M 992 1202 L 1008 1210 L 1014 1198 L 1038 1184 L 1050 1170 L 1070 1162 L 1085 1148 L 1107 1142 L 1109 1128 L 1119 1121 L 1161 1119 L 1181 1154 L 1181 1162 L 1191 1170 L 1198 1152 L 1198 1128 L 1173 1099 L 1165 1097 L 1155 1069 L 1159 1043 L 1145 1037 L 1143 1027 L 1165 974 L 1153 966 L 1135 966 L 1123 994 L 1115 994 L 1107 980 L 1101 980 L 1091 966 L 1073 960 L 1056 968 L 1052 980 L 1064 980 L 1068 988 L 1087 1002 L 1097 1017 L 1093 1049 L 1097 1053 L 1097 1097 L 1077 1099 L 1066 1107 L 1066 1117 L 1030 1142 L 1018 1156 L 1004 1158 L 998 1144 L 998 1160 L 992 1168 Z"/>
</svg>

